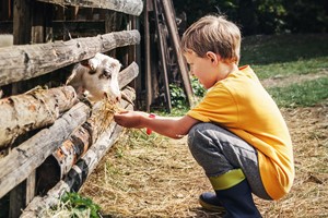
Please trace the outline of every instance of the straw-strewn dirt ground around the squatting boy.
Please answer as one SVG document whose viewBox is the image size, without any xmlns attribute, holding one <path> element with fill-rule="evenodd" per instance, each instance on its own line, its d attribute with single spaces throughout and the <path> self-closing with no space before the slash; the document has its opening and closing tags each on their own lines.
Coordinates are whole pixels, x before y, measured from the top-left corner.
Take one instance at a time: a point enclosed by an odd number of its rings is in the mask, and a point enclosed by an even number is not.
<svg viewBox="0 0 328 218">
<path fill-rule="evenodd" d="M 263 217 L 328 217 L 328 101 L 281 110 L 293 140 L 294 185 L 277 202 L 255 196 L 256 205 Z M 103 158 L 81 194 L 98 204 L 105 217 L 221 217 L 200 208 L 198 196 L 207 191 L 211 185 L 186 137 L 131 131 Z"/>
</svg>

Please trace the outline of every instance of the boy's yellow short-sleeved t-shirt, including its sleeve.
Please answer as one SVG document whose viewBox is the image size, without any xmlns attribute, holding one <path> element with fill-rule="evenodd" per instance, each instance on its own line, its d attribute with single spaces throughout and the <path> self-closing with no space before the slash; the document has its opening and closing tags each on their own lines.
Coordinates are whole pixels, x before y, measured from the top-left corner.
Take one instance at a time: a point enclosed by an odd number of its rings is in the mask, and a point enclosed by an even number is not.
<svg viewBox="0 0 328 218">
<path fill-rule="evenodd" d="M 263 185 L 273 199 L 290 191 L 295 175 L 290 133 L 250 66 L 219 81 L 187 114 L 218 123 L 253 145 L 258 150 Z"/>
</svg>

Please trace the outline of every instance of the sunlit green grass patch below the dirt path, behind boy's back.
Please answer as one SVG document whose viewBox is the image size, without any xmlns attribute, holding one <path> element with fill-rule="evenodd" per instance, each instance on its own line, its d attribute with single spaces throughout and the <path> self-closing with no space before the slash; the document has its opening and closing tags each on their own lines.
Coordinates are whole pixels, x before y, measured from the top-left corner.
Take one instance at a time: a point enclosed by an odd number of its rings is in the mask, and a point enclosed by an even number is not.
<svg viewBox="0 0 328 218">
<path fill-rule="evenodd" d="M 272 87 L 268 92 L 279 107 L 311 107 L 328 99 L 328 77 L 292 84 L 286 87 Z"/>
</svg>

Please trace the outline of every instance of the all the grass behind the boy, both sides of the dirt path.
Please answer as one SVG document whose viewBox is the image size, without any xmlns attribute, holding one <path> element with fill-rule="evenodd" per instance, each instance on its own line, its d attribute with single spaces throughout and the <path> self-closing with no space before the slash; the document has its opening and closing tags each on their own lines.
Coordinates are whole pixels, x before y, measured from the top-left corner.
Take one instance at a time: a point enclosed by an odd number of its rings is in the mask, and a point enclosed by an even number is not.
<svg viewBox="0 0 328 218">
<path fill-rule="evenodd" d="M 250 64 L 261 81 L 291 78 L 284 87 L 270 87 L 279 107 L 311 107 L 328 99 L 328 35 L 279 35 L 245 38 L 241 64 Z M 297 82 L 304 75 L 324 74 Z"/>
</svg>

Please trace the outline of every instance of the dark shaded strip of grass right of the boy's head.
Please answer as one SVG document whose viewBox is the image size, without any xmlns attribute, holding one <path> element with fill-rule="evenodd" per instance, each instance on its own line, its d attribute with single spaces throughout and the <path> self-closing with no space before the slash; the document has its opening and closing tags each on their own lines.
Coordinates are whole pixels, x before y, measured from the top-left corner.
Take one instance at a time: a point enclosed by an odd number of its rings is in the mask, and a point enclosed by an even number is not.
<svg viewBox="0 0 328 218">
<path fill-rule="evenodd" d="M 242 41 L 242 64 L 269 64 L 317 59 L 328 55 L 328 34 L 260 35 Z"/>
</svg>

